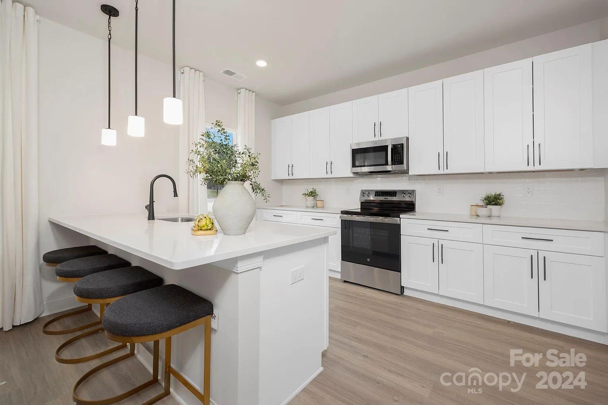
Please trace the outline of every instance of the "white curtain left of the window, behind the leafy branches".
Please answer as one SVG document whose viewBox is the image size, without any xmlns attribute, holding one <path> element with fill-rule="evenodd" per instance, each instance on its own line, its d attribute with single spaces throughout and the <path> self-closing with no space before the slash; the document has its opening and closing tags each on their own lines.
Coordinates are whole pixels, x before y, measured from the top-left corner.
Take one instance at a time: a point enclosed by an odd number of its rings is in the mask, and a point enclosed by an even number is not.
<svg viewBox="0 0 608 405">
<path fill-rule="evenodd" d="M 192 144 L 205 132 L 205 90 L 202 72 L 184 67 L 179 84 L 184 123 L 179 129 L 179 212 L 207 213 L 207 186 L 185 173 Z"/>
</svg>

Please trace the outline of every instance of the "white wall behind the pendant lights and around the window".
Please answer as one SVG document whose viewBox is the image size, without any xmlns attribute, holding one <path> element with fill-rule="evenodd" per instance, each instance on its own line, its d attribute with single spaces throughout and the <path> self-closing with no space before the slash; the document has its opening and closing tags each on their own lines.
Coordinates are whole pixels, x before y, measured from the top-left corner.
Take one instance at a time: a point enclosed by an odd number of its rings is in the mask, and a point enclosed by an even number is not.
<svg viewBox="0 0 608 405">
<path fill-rule="evenodd" d="M 171 66 L 139 55 L 139 115 L 146 119 L 143 138 L 126 135 L 134 112 L 134 53 L 112 46 L 112 128 L 117 146 L 102 146 L 107 126 L 107 42 L 40 18 L 40 255 L 57 248 L 94 243 L 60 226 L 49 216 L 141 211 L 148 203 L 150 180 L 165 173 L 174 179 L 179 128 L 162 121 L 162 99 L 171 95 Z M 178 83 L 179 86 L 179 83 Z M 206 118 L 237 128 L 235 90 L 205 80 Z M 270 120 L 278 106 L 257 98 L 257 149 L 262 154 L 260 181 L 280 203 L 281 185 L 270 180 Z M 171 183 L 154 187 L 157 213 L 175 212 Z M 58 282 L 54 268 L 41 265 L 46 312 L 75 306 L 72 284 Z"/>
</svg>

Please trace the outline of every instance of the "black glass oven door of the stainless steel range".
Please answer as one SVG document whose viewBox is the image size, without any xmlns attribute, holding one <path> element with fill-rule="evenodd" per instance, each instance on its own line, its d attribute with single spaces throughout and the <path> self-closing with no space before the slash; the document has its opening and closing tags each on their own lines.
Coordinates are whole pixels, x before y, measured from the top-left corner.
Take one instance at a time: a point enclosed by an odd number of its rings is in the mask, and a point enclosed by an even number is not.
<svg viewBox="0 0 608 405">
<path fill-rule="evenodd" d="M 401 273 L 399 218 L 340 215 L 342 261 Z"/>
</svg>

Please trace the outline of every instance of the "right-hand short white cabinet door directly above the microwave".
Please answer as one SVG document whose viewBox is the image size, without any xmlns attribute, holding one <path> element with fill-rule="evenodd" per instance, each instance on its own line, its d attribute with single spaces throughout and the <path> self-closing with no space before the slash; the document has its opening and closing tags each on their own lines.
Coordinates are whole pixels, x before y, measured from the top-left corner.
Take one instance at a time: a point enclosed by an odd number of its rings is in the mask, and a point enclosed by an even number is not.
<svg viewBox="0 0 608 405">
<path fill-rule="evenodd" d="M 378 96 L 378 135 L 380 138 L 407 137 L 407 89 Z"/>
</svg>

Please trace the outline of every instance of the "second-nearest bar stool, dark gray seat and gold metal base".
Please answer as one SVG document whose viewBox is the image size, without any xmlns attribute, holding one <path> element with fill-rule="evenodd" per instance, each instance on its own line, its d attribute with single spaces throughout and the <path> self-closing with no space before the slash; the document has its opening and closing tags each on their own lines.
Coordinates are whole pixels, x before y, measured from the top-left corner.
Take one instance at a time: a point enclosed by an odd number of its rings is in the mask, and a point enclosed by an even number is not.
<svg viewBox="0 0 608 405">
<path fill-rule="evenodd" d="M 145 270 L 142 267 L 130 266 L 99 271 L 98 273 L 82 277 L 74 284 L 74 294 L 77 301 L 84 302 L 88 305 L 99 304 L 100 322 L 98 322 L 98 324 L 100 324 L 103 319 L 105 308 L 111 302 L 114 302 L 127 294 L 147 290 L 148 288 L 159 287 L 160 285 L 162 285 L 161 277 L 150 273 L 150 271 Z M 80 333 L 80 335 L 74 336 L 71 339 L 67 339 L 67 341 L 63 342 L 57 350 L 55 350 L 55 360 L 64 364 L 85 362 L 100 358 L 126 347 L 126 343 L 122 343 L 104 350 L 103 352 L 80 358 L 63 358 L 59 355 L 61 350 L 65 349 L 73 342 L 102 331 L 103 326 L 100 326 L 85 333 Z"/>
</svg>

